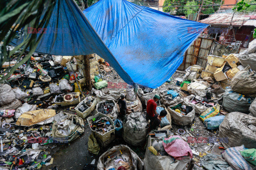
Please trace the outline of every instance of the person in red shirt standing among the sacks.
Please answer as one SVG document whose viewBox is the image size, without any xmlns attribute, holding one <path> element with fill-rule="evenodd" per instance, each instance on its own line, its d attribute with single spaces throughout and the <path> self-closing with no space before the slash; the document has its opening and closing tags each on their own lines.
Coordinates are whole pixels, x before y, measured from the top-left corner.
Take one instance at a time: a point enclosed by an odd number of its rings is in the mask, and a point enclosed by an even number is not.
<svg viewBox="0 0 256 170">
<path fill-rule="evenodd" d="M 154 117 L 158 115 L 156 113 L 156 102 L 159 100 L 160 96 L 155 95 L 153 99 L 148 100 L 147 103 L 147 115 L 146 120 L 153 121 Z"/>
</svg>

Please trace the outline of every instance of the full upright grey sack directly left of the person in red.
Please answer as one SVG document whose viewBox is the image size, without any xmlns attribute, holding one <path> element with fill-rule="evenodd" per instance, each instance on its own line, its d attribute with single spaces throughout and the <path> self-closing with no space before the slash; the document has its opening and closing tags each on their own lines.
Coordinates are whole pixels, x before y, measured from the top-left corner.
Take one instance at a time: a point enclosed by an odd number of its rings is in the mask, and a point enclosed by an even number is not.
<svg viewBox="0 0 256 170">
<path fill-rule="evenodd" d="M 142 113 L 131 113 L 123 123 L 122 137 L 125 142 L 132 146 L 140 146 L 146 140 L 147 121 Z"/>
</svg>

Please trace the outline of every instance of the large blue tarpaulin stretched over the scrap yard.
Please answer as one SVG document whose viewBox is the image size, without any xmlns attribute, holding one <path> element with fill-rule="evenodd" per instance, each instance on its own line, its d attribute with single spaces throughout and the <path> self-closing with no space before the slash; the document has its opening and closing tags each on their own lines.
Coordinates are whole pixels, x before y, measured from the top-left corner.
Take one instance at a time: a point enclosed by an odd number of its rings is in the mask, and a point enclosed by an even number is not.
<svg viewBox="0 0 256 170">
<path fill-rule="evenodd" d="M 83 13 L 74 1 L 58 0 L 36 52 L 96 53 L 126 83 L 150 88 L 171 77 L 186 49 L 207 27 L 125 0 L 101 0 Z"/>
</svg>

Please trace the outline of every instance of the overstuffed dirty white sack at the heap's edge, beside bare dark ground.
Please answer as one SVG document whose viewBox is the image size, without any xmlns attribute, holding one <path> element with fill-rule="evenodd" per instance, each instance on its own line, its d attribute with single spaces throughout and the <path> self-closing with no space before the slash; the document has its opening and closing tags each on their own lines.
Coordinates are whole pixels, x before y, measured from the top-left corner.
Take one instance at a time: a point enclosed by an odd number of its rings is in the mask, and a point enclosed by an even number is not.
<svg viewBox="0 0 256 170">
<path fill-rule="evenodd" d="M 84 133 L 84 121 L 77 115 L 60 112 L 54 116 L 52 137 L 59 142 L 70 142 Z"/>
</svg>

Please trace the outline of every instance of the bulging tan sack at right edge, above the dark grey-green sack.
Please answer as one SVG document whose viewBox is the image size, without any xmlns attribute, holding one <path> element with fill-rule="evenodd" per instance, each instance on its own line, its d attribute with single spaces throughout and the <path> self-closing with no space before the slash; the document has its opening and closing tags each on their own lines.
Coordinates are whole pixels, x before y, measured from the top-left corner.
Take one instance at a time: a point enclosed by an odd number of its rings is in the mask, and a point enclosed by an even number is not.
<svg viewBox="0 0 256 170">
<path fill-rule="evenodd" d="M 231 89 L 245 96 L 256 97 L 256 72 L 246 67 L 233 77 L 230 83 Z"/>
</svg>

